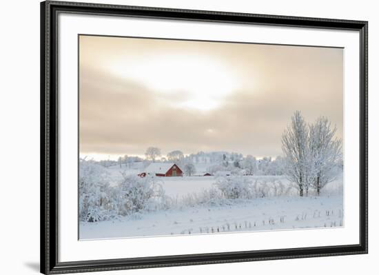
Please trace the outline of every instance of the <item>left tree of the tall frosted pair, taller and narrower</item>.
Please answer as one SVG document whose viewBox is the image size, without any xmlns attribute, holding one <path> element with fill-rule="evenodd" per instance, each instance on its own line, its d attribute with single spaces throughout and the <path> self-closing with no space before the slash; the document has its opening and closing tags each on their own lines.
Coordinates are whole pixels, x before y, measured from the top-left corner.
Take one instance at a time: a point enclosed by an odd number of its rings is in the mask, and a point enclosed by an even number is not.
<svg viewBox="0 0 379 275">
<path fill-rule="evenodd" d="M 299 111 L 291 118 L 291 124 L 282 135 L 285 171 L 289 181 L 296 183 L 300 196 L 309 188 L 307 179 L 307 154 L 309 130 Z"/>
</svg>

